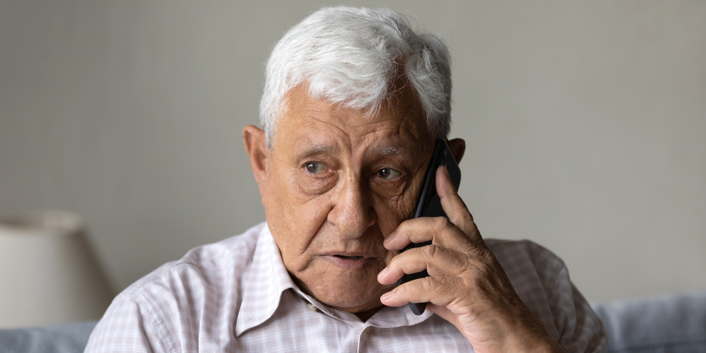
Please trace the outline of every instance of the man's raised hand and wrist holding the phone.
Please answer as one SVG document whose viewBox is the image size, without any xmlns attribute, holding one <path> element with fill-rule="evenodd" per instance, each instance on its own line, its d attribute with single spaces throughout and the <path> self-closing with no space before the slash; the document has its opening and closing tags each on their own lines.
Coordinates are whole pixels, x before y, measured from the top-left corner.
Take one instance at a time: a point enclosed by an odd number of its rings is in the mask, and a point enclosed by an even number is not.
<svg viewBox="0 0 706 353">
<path fill-rule="evenodd" d="M 387 306 L 429 301 L 426 309 L 453 323 L 476 352 L 563 352 L 520 299 L 500 263 L 478 232 L 473 216 L 456 192 L 446 167 L 436 171 L 436 191 L 445 217 L 402 222 L 385 239 L 385 248 L 432 241 L 395 256 L 378 275 L 383 285 L 404 273 L 426 269 L 430 277 L 407 282 L 383 294 Z"/>
</svg>

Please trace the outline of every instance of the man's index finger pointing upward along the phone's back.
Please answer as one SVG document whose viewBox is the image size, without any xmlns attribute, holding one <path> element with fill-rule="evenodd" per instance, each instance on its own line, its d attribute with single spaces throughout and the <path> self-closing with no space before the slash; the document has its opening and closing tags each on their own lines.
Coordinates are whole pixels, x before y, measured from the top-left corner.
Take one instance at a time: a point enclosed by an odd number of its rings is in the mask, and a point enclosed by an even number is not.
<svg viewBox="0 0 706 353">
<path fill-rule="evenodd" d="M 448 219 L 467 234 L 470 239 L 474 241 L 481 239 L 478 227 L 473 222 L 473 216 L 468 210 L 466 203 L 458 196 L 458 192 L 453 186 L 453 181 L 451 181 L 448 169 L 445 166 L 436 169 L 436 193 L 441 199 L 441 208 L 443 208 Z"/>
</svg>

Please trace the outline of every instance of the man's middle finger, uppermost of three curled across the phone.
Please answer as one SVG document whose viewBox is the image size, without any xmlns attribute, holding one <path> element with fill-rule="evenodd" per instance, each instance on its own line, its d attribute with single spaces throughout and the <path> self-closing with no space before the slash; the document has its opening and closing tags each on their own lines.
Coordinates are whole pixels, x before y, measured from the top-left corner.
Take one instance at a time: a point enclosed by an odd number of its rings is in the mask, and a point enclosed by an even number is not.
<svg viewBox="0 0 706 353">
<path fill-rule="evenodd" d="M 404 249 L 410 242 L 431 244 L 444 248 L 467 251 L 473 245 L 466 234 L 446 217 L 421 217 L 400 223 L 395 232 L 388 234 L 383 246 L 388 250 Z"/>
</svg>

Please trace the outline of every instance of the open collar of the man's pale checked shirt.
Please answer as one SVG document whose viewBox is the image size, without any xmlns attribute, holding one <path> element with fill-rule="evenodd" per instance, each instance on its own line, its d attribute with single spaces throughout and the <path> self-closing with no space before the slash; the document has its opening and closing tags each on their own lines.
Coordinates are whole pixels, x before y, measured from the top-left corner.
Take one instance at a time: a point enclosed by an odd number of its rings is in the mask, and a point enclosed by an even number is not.
<svg viewBox="0 0 706 353">
<path fill-rule="evenodd" d="M 272 237 L 270 228 L 266 223 L 258 235 L 251 270 L 248 277 L 244 278 L 242 286 L 243 301 L 235 323 L 236 337 L 239 337 L 250 328 L 261 325 L 272 317 L 277 307 L 280 306 L 282 292 L 290 288 L 299 297 L 309 301 L 309 303 L 328 316 L 337 318 L 340 321 L 362 323 L 354 314 L 331 309 L 322 304 L 321 301 L 316 300 L 316 298 L 309 296 L 309 294 L 301 292 L 301 289 L 292 281 L 292 277 L 289 277 L 287 268 L 282 263 L 280 249 L 277 248 L 275 239 Z M 425 311 L 419 316 L 414 315 L 406 305 L 400 307 L 386 306 L 366 321 L 366 325 L 378 328 L 416 325 L 425 321 L 431 315 L 431 311 Z"/>
</svg>

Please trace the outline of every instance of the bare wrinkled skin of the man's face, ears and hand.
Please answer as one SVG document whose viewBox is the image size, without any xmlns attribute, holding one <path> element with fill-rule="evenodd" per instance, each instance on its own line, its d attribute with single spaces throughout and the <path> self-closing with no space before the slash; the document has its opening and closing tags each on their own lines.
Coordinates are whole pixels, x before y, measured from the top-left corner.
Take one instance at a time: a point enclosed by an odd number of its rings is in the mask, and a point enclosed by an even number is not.
<svg viewBox="0 0 706 353">
<path fill-rule="evenodd" d="M 265 214 L 282 261 L 322 303 L 367 320 L 383 305 L 430 301 L 476 352 L 563 352 L 485 246 L 445 167 L 436 189 L 444 217 L 410 220 L 433 136 L 409 85 L 376 114 L 287 94 L 273 148 L 243 131 Z M 450 140 L 460 161 L 465 142 Z M 399 253 L 410 241 L 431 246 Z M 396 287 L 403 273 L 431 277 Z"/>
</svg>

